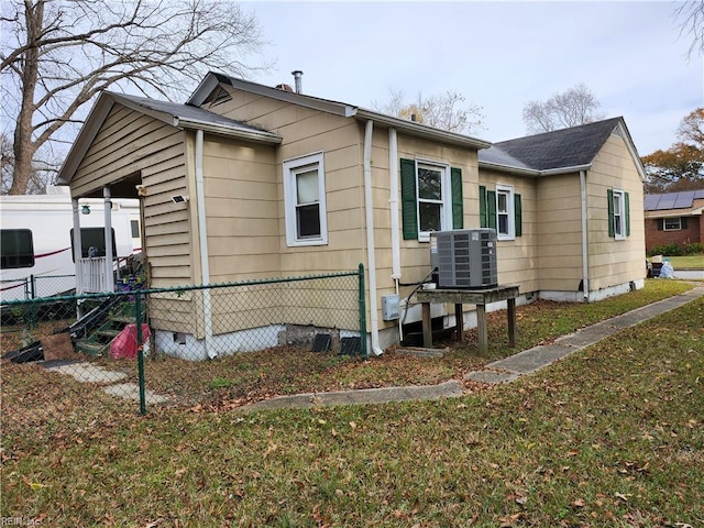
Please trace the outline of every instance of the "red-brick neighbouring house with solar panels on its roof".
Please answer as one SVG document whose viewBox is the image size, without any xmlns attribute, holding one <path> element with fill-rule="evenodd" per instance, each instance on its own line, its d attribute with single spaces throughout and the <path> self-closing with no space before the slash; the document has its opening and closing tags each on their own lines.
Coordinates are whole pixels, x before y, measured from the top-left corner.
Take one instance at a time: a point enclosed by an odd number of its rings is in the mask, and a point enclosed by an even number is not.
<svg viewBox="0 0 704 528">
<path fill-rule="evenodd" d="M 704 189 L 646 195 L 646 251 L 678 244 L 704 244 Z"/>
</svg>

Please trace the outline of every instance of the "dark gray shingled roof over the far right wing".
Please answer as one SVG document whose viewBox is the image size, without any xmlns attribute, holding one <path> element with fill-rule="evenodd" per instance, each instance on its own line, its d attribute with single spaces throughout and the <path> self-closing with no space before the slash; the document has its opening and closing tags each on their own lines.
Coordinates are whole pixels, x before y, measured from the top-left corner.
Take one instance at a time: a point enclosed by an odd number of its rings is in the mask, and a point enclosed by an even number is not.
<svg viewBox="0 0 704 528">
<path fill-rule="evenodd" d="M 588 165 L 622 121 L 622 118 L 612 118 L 570 129 L 501 141 L 490 148 L 480 151 L 480 162 L 536 170 Z M 520 165 L 512 163 L 512 160 Z"/>
</svg>

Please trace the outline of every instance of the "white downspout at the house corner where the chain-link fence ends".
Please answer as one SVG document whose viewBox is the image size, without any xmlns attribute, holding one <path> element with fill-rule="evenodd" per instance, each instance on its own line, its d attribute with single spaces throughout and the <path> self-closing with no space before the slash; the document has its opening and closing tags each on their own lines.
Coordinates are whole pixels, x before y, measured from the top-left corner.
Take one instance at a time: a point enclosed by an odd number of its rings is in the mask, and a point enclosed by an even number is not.
<svg viewBox="0 0 704 528">
<path fill-rule="evenodd" d="M 366 213 L 366 264 L 370 280 L 370 332 L 372 352 L 382 355 L 378 345 L 378 314 L 376 304 L 376 250 L 374 248 L 374 204 L 372 204 L 372 133 L 374 122 L 370 119 L 364 130 L 364 210 Z M 362 336 L 366 339 L 366 336 Z"/>
</svg>

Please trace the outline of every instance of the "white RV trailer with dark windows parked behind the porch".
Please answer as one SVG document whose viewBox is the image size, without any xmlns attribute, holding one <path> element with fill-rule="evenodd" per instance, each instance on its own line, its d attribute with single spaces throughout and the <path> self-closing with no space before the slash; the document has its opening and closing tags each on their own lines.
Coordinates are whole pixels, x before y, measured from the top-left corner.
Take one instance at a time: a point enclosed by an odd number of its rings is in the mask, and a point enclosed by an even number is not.
<svg viewBox="0 0 704 528">
<path fill-rule="evenodd" d="M 141 251 L 139 200 L 111 201 L 113 255 L 124 258 Z M 81 199 L 80 211 L 82 252 L 105 256 L 103 200 Z M 50 187 L 46 195 L 0 196 L 0 300 L 48 297 L 74 289 L 73 229 L 67 187 Z"/>
</svg>

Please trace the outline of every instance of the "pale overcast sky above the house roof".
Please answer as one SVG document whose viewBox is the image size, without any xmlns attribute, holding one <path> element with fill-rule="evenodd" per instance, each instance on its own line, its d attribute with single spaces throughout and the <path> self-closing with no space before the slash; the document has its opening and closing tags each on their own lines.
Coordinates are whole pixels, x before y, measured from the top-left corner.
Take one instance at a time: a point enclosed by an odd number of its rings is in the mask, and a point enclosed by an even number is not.
<svg viewBox="0 0 704 528">
<path fill-rule="evenodd" d="M 455 90 L 483 108 L 474 135 L 526 135 L 522 108 L 584 82 L 623 116 L 640 155 L 668 148 L 704 106 L 704 57 L 686 52 L 678 2 L 250 2 L 274 68 L 253 80 L 364 108 Z"/>
</svg>

